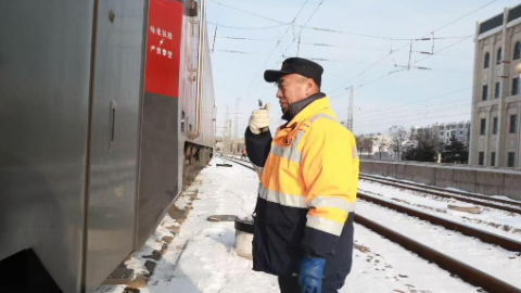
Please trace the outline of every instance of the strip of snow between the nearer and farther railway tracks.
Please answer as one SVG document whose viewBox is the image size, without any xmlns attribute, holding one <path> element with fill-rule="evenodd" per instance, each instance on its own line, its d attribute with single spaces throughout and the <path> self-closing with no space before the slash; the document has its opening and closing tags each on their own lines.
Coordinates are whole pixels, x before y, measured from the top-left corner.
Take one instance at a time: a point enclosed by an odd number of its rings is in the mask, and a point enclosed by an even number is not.
<svg viewBox="0 0 521 293">
<path fill-rule="evenodd" d="M 453 199 L 444 199 L 367 180 L 359 180 L 358 190 L 369 191 L 369 193 L 377 196 L 383 196 L 389 200 L 398 201 L 399 203 L 420 207 L 422 212 L 439 217 L 463 222 L 479 229 L 521 241 L 521 216 L 516 213 L 503 212 L 490 207 L 483 207 L 481 214 L 469 214 L 447 209 L 447 204 L 463 206 L 468 206 L 469 204 Z"/>
</svg>

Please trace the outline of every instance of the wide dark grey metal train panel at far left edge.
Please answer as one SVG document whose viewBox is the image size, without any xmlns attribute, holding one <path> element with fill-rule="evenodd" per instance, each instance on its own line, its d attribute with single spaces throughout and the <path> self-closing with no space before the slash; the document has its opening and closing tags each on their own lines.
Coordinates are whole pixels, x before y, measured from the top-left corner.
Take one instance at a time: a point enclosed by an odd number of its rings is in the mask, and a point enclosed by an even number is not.
<svg viewBox="0 0 521 293">
<path fill-rule="evenodd" d="M 0 260 L 79 292 L 93 1 L 0 1 Z"/>
</svg>

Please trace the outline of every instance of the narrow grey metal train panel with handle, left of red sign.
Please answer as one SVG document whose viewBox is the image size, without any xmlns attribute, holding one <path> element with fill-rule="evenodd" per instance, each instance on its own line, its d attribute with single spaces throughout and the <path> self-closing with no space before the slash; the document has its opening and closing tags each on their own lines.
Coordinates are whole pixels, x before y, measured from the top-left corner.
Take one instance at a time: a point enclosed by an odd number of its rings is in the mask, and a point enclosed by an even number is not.
<svg viewBox="0 0 521 293">
<path fill-rule="evenodd" d="M 99 1 L 93 64 L 86 292 L 135 245 L 143 0 Z"/>
</svg>

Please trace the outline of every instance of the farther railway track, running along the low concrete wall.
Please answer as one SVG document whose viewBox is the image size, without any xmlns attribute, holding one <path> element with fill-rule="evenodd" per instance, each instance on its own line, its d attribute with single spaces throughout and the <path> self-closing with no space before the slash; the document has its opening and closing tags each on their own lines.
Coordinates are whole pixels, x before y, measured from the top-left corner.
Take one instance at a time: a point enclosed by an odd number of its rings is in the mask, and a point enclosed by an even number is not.
<svg viewBox="0 0 521 293">
<path fill-rule="evenodd" d="M 452 191 L 452 190 L 446 190 L 437 187 L 423 186 L 423 184 L 414 183 L 414 182 L 404 182 L 396 179 L 373 177 L 368 175 L 360 175 L 359 178 L 364 180 L 372 181 L 372 182 L 382 183 L 385 186 L 423 192 L 423 193 L 428 193 L 428 194 L 432 194 L 432 195 L 445 198 L 445 199 L 454 199 L 461 202 L 472 203 L 481 206 L 487 206 L 487 207 L 510 212 L 510 213 L 517 213 L 521 215 L 521 202 L 495 199 L 495 198 L 476 194 L 476 193 Z M 508 205 L 503 205 L 503 204 L 508 204 Z"/>
</svg>

